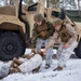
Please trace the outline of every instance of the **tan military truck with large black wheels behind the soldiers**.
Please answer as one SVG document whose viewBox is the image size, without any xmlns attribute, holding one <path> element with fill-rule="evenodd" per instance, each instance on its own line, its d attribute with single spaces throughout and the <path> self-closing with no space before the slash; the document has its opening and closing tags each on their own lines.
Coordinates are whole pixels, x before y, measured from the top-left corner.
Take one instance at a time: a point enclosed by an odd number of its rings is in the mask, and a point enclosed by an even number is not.
<svg viewBox="0 0 81 81">
<path fill-rule="evenodd" d="M 23 5 L 23 0 L 14 0 L 14 5 L 0 6 L 0 59 L 9 60 L 25 53 L 26 41 L 31 38 L 33 16 L 41 13 L 45 21 L 51 23 L 62 14 L 58 8 L 44 8 L 45 0 L 40 0 L 30 5 Z M 81 23 L 75 23 L 66 16 L 78 33 L 78 48 L 76 54 L 81 58 Z M 58 46 L 57 44 L 54 48 Z"/>
</svg>

